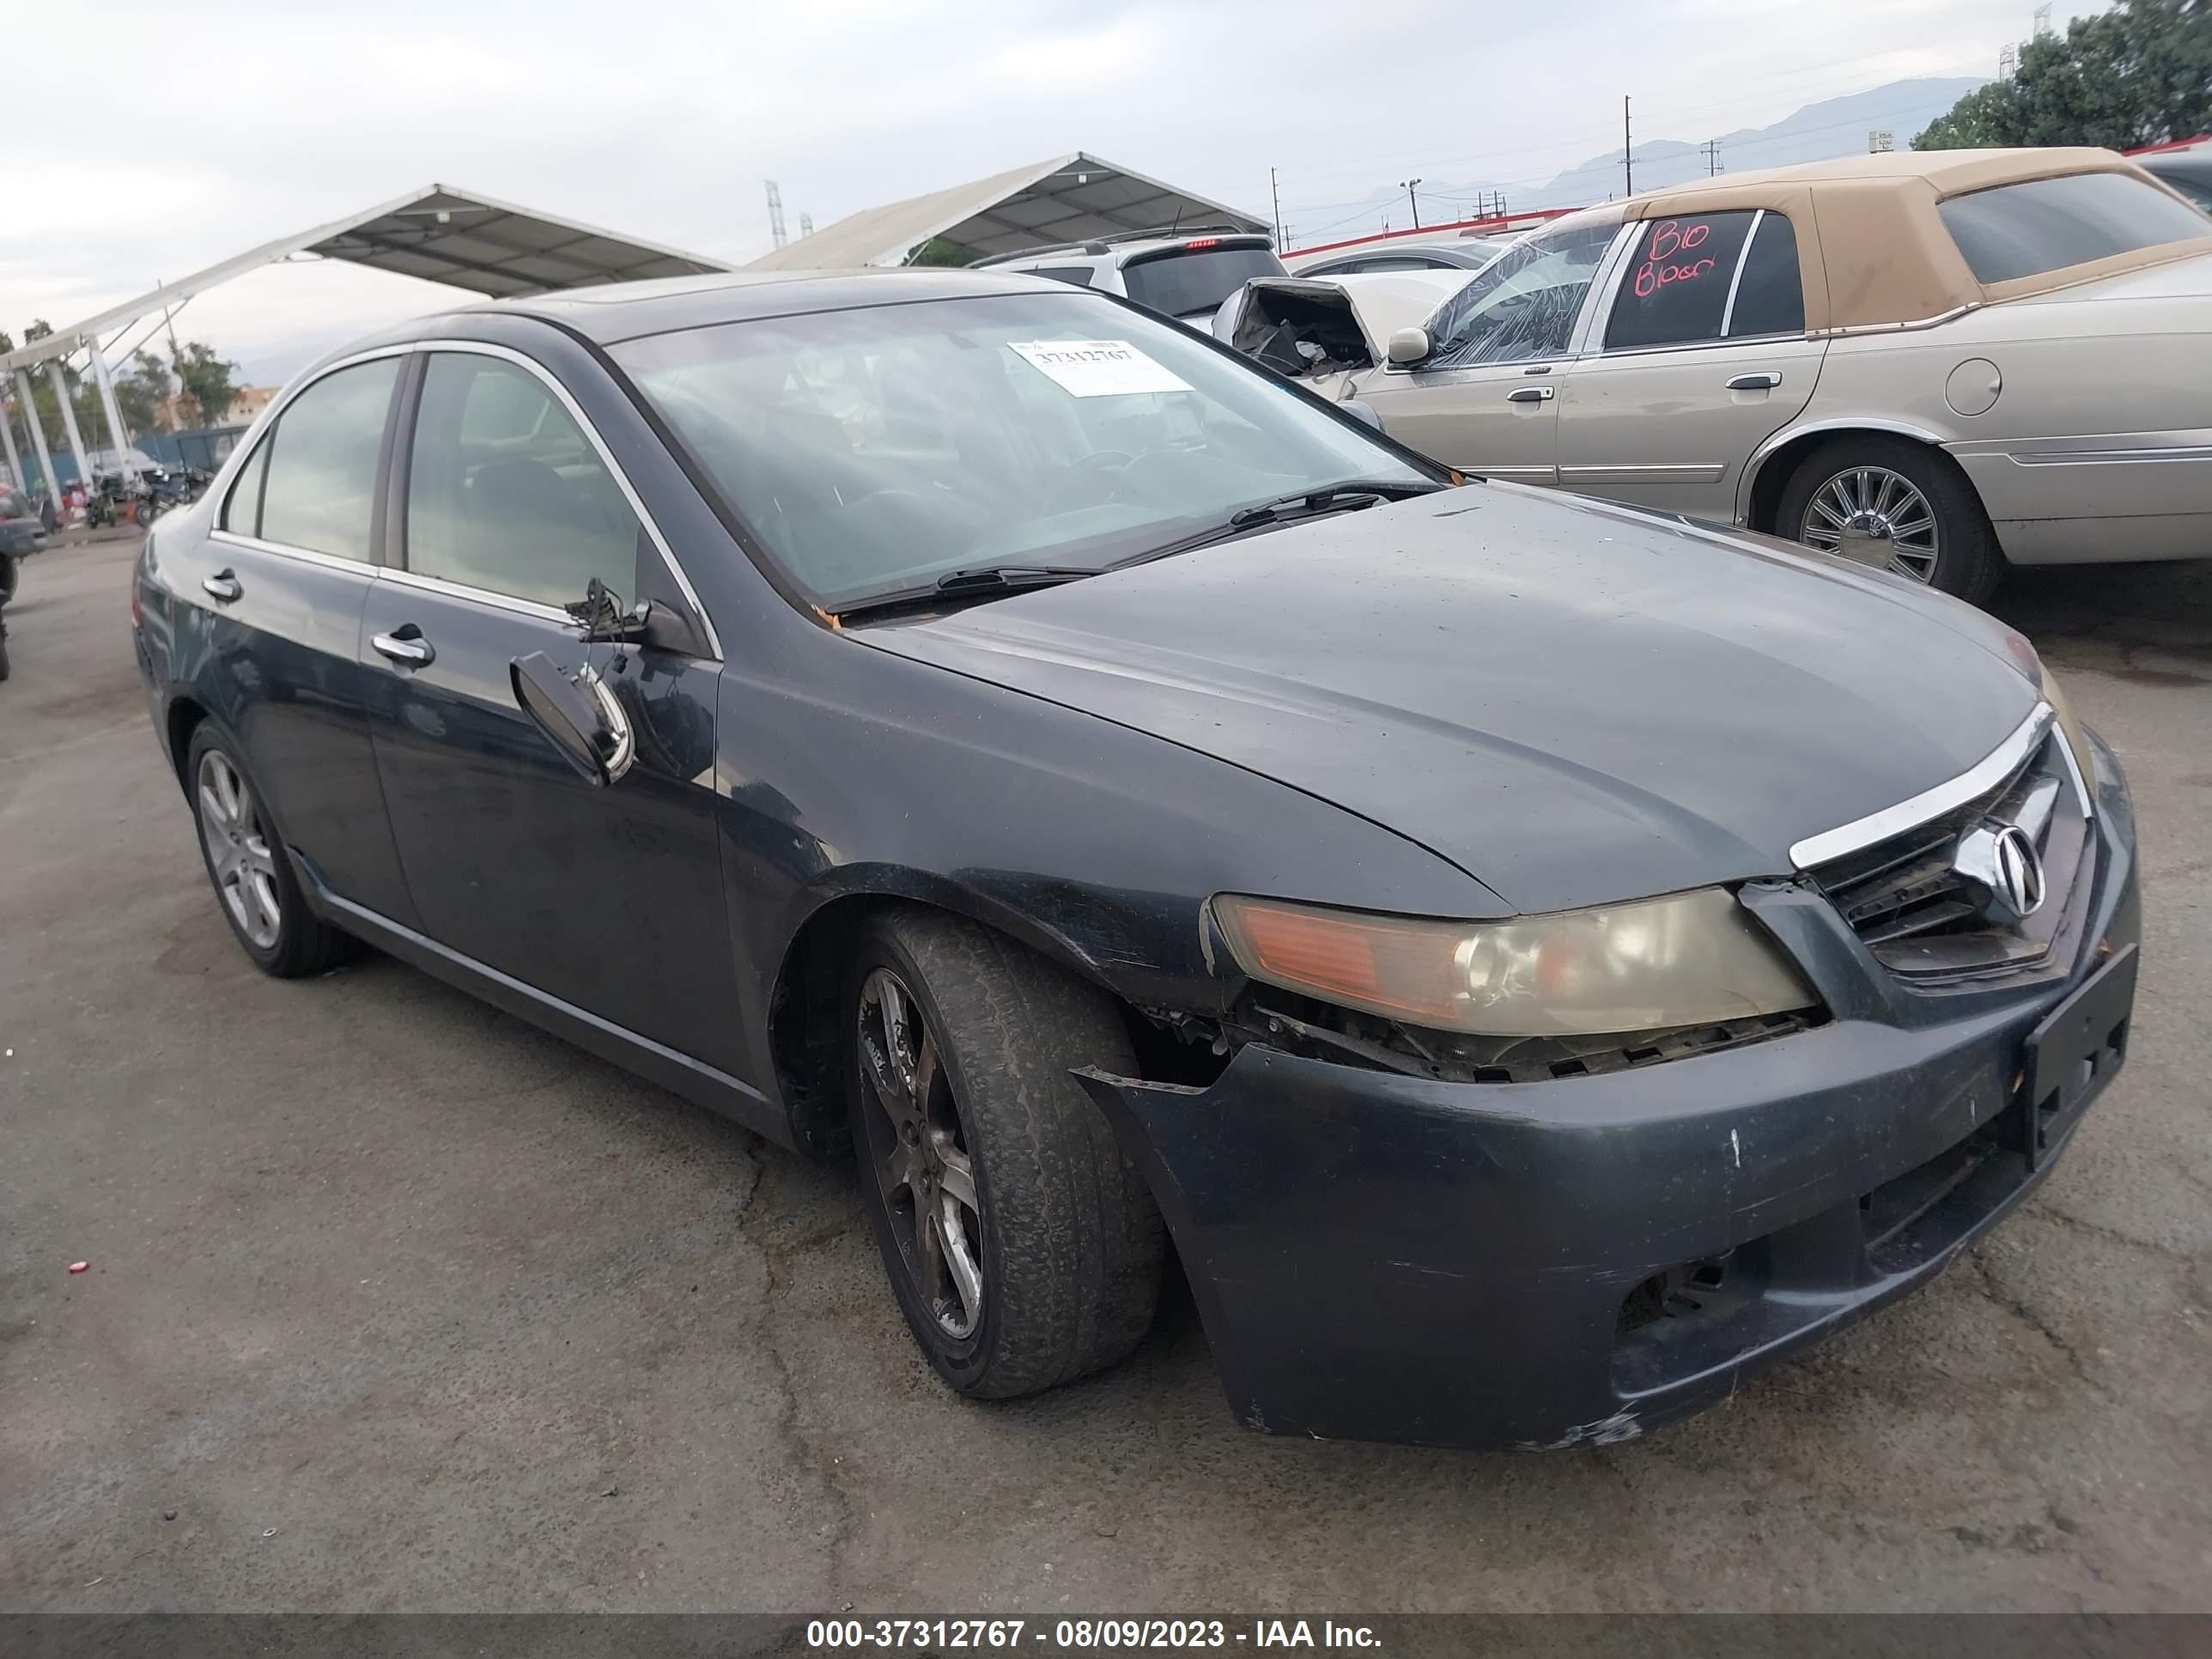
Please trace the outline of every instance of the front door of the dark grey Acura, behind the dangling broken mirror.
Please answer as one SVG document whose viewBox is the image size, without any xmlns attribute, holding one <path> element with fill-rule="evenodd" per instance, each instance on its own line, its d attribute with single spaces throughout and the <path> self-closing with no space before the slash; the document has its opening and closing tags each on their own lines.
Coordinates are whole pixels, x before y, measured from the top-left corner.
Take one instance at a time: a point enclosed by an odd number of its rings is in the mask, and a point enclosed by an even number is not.
<svg viewBox="0 0 2212 1659">
<path fill-rule="evenodd" d="M 396 445 L 392 568 L 361 659 L 392 834 L 422 931 L 586 1015 L 717 1068 L 741 1062 L 714 827 L 714 681 L 657 531 L 553 376 L 504 347 L 431 349 Z M 657 597 L 692 648 L 586 646 L 599 577 Z M 635 761 L 586 783 L 515 701 L 542 650 L 617 688 Z"/>
</svg>

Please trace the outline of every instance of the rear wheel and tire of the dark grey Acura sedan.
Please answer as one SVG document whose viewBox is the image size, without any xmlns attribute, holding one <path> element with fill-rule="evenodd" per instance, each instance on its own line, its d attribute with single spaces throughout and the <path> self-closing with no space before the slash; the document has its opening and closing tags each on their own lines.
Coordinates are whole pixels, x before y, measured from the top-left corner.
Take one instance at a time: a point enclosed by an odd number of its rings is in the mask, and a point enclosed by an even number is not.
<svg viewBox="0 0 2212 1659">
<path fill-rule="evenodd" d="M 296 980 L 352 956 L 354 942 L 307 909 L 292 858 L 230 734 L 201 721 L 186 750 L 184 776 L 215 902 L 254 967 Z"/>
</svg>

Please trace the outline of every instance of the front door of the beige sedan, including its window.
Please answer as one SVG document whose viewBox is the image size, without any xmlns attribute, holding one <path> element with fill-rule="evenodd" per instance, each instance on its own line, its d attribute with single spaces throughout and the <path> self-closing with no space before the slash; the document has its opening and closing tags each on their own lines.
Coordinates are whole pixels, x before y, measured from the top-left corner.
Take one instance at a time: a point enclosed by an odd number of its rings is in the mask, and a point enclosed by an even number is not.
<svg viewBox="0 0 2212 1659">
<path fill-rule="evenodd" d="M 1546 230 L 1506 250 L 1427 323 L 1429 356 L 1365 369 L 1358 396 L 1420 453 L 1517 484 L 1557 482 L 1557 398 L 1617 219 Z"/>
</svg>

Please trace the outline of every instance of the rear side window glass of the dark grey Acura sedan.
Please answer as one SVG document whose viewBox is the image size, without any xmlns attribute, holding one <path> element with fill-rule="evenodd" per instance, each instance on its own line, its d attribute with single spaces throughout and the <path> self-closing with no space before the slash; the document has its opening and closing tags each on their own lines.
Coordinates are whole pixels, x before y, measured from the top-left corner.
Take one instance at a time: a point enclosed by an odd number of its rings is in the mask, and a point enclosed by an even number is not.
<svg viewBox="0 0 2212 1659">
<path fill-rule="evenodd" d="M 248 462 L 248 469 L 268 469 L 261 487 L 261 540 L 336 553 L 341 560 L 369 557 L 376 456 L 385 442 L 385 416 L 398 374 L 400 358 L 383 356 L 325 374 L 292 398 L 261 440 L 268 460 Z M 246 473 L 239 482 L 246 482 Z M 241 498 L 232 491 L 232 511 L 239 504 Z"/>
</svg>

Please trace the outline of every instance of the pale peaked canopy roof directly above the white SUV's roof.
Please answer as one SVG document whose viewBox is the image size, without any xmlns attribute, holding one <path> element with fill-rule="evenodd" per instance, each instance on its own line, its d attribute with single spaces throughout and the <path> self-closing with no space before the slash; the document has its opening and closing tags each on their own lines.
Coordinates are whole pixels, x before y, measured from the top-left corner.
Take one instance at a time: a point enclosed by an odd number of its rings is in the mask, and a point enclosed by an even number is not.
<svg viewBox="0 0 2212 1659">
<path fill-rule="evenodd" d="M 745 270 L 902 265 L 931 237 L 945 237 L 978 254 L 1011 254 L 1040 243 L 1086 241 L 1172 223 L 1270 230 L 1265 219 L 1250 212 L 1077 150 L 951 190 L 863 208 L 812 237 L 754 259 Z"/>
</svg>

